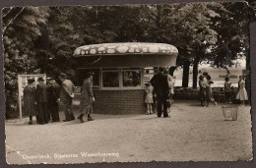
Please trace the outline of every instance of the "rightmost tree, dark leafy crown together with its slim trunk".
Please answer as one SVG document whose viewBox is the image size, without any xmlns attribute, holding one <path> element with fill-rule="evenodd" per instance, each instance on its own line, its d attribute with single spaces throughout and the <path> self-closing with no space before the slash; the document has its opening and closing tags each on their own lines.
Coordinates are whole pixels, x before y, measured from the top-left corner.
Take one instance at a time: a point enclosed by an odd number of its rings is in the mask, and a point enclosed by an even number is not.
<svg viewBox="0 0 256 168">
<path fill-rule="evenodd" d="M 237 59 L 248 52 L 248 10 L 245 3 L 223 3 L 224 8 L 212 6 L 220 17 L 211 19 L 216 42 L 201 43 L 193 64 L 193 87 L 197 87 L 198 63 L 203 61 L 215 68 L 237 65 Z"/>
</svg>

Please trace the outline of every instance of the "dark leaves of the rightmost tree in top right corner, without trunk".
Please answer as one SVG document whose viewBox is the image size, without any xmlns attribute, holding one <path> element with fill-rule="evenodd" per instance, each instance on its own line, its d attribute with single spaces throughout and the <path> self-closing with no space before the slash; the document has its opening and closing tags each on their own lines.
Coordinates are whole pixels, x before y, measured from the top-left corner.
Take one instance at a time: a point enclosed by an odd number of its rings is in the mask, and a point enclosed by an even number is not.
<svg viewBox="0 0 256 168">
<path fill-rule="evenodd" d="M 220 13 L 213 20 L 212 28 L 218 32 L 218 41 L 211 46 L 208 63 L 212 67 L 227 68 L 236 65 L 236 60 L 245 57 L 249 48 L 249 15 L 246 3 L 225 3 L 229 12 Z"/>
</svg>

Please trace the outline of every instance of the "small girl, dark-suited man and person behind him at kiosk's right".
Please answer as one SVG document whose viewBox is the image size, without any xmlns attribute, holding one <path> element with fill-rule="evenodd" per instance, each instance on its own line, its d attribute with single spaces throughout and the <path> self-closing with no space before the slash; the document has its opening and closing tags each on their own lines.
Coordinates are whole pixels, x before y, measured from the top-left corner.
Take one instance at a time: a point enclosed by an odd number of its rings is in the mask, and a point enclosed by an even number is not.
<svg viewBox="0 0 256 168">
<path fill-rule="evenodd" d="M 146 98 L 148 114 L 153 114 L 153 105 L 157 101 L 158 117 L 168 117 L 170 101 L 174 93 L 174 81 L 168 71 L 162 67 L 159 68 L 159 73 L 154 75 L 151 81 L 146 84 Z"/>
</svg>

